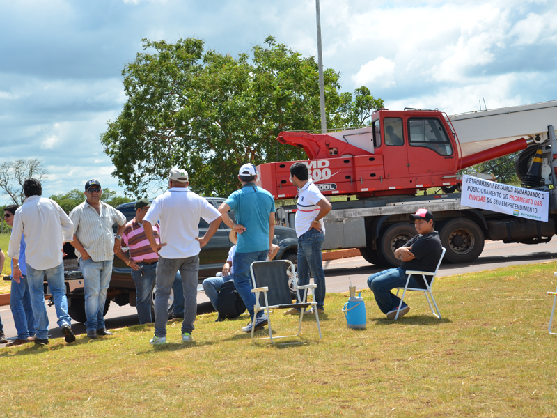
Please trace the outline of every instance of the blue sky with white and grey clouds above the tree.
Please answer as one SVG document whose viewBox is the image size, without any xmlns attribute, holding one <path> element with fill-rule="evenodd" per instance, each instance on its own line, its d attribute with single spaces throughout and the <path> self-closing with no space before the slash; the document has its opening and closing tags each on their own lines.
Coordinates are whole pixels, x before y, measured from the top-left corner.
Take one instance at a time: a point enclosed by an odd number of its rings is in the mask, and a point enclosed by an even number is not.
<svg viewBox="0 0 557 418">
<path fill-rule="evenodd" d="M 555 1 L 320 4 L 324 66 L 340 71 L 343 90 L 368 86 L 389 109 L 557 99 Z M 196 37 L 235 55 L 267 35 L 315 56 L 315 1 L 1 1 L 0 163 L 42 160 L 45 196 L 89 178 L 120 191 L 100 134 L 122 109 L 121 71 L 141 39 Z"/>
</svg>

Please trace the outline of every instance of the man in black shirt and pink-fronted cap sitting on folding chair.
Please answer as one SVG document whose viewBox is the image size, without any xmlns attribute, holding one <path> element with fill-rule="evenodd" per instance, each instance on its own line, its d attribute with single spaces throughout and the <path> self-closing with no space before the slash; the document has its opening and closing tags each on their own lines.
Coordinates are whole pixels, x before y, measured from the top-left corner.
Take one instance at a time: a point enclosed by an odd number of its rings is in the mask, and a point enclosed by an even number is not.
<svg viewBox="0 0 557 418">
<path fill-rule="evenodd" d="M 400 304 L 400 297 L 391 293 L 391 289 L 406 285 L 406 270 L 434 272 L 443 252 L 439 233 L 434 230 L 433 214 L 427 209 L 418 209 L 410 215 L 418 235 L 415 235 L 404 246 L 395 251 L 395 257 L 400 263 L 399 268 L 391 268 L 372 274 L 368 277 L 368 286 L 375 295 L 375 302 L 387 318 L 394 319 Z M 408 287 L 426 288 L 423 278 L 410 277 Z M 400 308 L 400 318 L 408 314 L 410 307 L 403 304 Z"/>
</svg>

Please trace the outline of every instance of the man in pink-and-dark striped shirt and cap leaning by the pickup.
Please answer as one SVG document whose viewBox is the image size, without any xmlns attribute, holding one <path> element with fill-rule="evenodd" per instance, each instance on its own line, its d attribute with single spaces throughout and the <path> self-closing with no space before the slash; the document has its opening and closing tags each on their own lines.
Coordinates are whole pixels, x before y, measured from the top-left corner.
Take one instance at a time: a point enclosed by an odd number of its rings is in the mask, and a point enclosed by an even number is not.
<svg viewBox="0 0 557 418">
<path fill-rule="evenodd" d="M 151 249 L 145 229 L 143 229 L 143 217 L 150 206 L 151 203 L 148 199 L 136 201 L 135 217 L 126 224 L 122 234 L 122 244 L 123 247 L 130 249 L 130 256 L 123 254 L 121 247 L 116 250 L 116 255 L 132 268 L 132 279 L 134 279 L 136 288 L 137 316 L 139 316 L 140 324 L 152 323 L 151 289 L 155 283 L 155 277 L 157 277 L 157 261 L 159 261 L 159 256 Z M 151 226 L 155 242 L 160 244 L 159 224 Z"/>
</svg>

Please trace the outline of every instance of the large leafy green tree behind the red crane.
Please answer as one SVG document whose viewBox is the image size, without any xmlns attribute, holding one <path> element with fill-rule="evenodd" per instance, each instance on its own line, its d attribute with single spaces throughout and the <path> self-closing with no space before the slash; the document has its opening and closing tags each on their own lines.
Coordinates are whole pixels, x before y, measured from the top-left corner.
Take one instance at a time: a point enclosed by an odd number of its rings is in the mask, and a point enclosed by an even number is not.
<svg viewBox="0 0 557 418">
<path fill-rule="evenodd" d="M 144 52 L 123 70 L 127 101 L 101 135 L 127 193 L 145 195 L 168 169 L 187 169 L 203 194 L 237 188 L 245 162 L 303 160 L 301 148 L 275 141 L 283 130 L 320 128 L 317 63 L 269 36 L 237 58 L 188 38 L 143 40 Z M 324 72 L 327 126 L 363 125 L 383 101 L 366 87 L 340 93 L 340 75 Z"/>
</svg>

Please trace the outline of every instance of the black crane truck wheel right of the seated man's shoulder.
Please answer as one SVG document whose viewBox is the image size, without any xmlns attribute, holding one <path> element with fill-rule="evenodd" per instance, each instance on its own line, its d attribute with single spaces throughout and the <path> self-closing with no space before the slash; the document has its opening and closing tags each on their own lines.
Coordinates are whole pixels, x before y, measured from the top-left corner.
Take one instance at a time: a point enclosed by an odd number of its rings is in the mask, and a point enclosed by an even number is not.
<svg viewBox="0 0 557 418">
<path fill-rule="evenodd" d="M 485 238 L 480 227 L 470 219 L 451 219 L 439 233 L 446 248 L 445 259 L 451 263 L 469 263 L 482 254 Z"/>
</svg>

